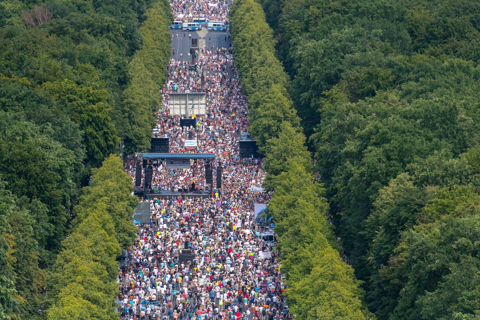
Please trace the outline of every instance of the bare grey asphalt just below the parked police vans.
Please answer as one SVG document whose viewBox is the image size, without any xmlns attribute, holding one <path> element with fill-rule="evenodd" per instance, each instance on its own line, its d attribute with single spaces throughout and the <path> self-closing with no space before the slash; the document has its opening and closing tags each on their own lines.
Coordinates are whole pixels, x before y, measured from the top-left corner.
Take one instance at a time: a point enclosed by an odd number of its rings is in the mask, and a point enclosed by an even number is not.
<svg viewBox="0 0 480 320">
<path fill-rule="evenodd" d="M 231 41 L 228 41 L 228 30 L 223 31 L 207 31 L 206 28 L 203 28 L 202 31 L 183 31 L 183 30 L 170 30 L 170 34 L 173 36 L 171 47 L 175 48 L 175 54 L 173 50 L 170 50 L 171 58 L 177 60 L 187 60 L 187 54 L 190 52 L 190 47 L 192 47 L 192 40 L 188 38 L 188 35 L 191 34 L 192 38 L 197 38 L 199 42 L 199 48 L 202 49 L 201 40 L 204 40 L 205 45 L 210 49 L 212 46 L 218 47 L 228 47 Z M 185 34 L 186 37 L 180 39 L 180 34 Z M 177 39 L 178 35 L 178 39 Z M 227 36 L 227 41 L 225 37 Z M 203 39 L 202 39 L 203 38 Z M 210 38 L 210 40 L 208 40 Z M 180 58 L 180 53 L 182 57 Z M 192 62 L 192 57 L 190 59 Z"/>
</svg>

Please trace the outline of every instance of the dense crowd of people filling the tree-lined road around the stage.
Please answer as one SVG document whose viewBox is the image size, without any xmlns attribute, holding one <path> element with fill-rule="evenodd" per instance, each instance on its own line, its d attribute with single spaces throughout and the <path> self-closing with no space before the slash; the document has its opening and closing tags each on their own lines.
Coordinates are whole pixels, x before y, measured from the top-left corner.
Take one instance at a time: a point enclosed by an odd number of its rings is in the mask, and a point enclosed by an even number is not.
<svg viewBox="0 0 480 320">
<path fill-rule="evenodd" d="M 228 19 L 228 3 L 216 7 L 204 1 L 173 1 L 181 14 Z M 278 320 L 291 319 L 283 306 L 284 284 L 273 242 L 264 241 L 264 227 L 255 224 L 254 203 L 267 203 L 269 192 L 258 192 L 265 172 L 261 159 L 239 154 L 240 132 L 248 126 L 246 99 L 228 48 L 203 47 L 191 64 L 171 59 L 162 90 L 156 137 L 168 137 L 172 153 L 216 155 L 211 163 L 222 169 L 222 186 L 208 198 L 178 196 L 148 199 L 151 222 L 139 225 L 138 237 L 121 266 L 119 311 L 122 319 Z M 174 84 L 178 89 L 174 89 Z M 172 92 L 205 92 L 206 114 L 195 126 L 180 127 L 180 117 L 168 113 Z M 185 140 L 196 140 L 186 149 Z M 135 177 L 135 162 L 126 164 Z M 144 181 L 144 172 L 143 175 Z M 169 169 L 153 165 L 152 188 L 179 191 L 209 190 L 205 162 Z"/>
</svg>

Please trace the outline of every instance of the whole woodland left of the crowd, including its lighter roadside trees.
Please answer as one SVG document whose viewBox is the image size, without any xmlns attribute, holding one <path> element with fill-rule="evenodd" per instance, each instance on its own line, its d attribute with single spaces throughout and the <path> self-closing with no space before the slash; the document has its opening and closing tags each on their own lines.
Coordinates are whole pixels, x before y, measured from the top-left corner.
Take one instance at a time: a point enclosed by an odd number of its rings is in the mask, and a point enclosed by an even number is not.
<svg viewBox="0 0 480 320">
<path fill-rule="evenodd" d="M 0 319 L 60 319 L 80 305 L 92 314 L 72 319 L 114 318 L 134 199 L 110 154 L 150 146 L 170 11 L 168 0 L 0 1 Z"/>
</svg>

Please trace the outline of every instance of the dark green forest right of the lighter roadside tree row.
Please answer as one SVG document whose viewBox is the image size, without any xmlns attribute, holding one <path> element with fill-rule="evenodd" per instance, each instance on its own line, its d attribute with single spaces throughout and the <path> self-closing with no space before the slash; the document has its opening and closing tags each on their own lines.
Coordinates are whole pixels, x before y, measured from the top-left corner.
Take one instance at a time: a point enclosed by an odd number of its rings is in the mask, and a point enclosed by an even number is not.
<svg viewBox="0 0 480 320">
<path fill-rule="evenodd" d="M 262 0 L 378 319 L 476 319 L 480 9 Z"/>
</svg>

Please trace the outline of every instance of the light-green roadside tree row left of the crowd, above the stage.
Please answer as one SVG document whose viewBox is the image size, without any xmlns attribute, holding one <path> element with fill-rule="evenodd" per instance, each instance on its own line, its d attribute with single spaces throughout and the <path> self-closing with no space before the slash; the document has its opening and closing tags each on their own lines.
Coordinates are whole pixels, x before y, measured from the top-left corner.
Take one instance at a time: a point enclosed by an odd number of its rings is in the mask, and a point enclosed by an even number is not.
<svg viewBox="0 0 480 320">
<path fill-rule="evenodd" d="M 160 89 L 164 86 L 170 58 L 168 25 L 173 20 L 168 1 L 159 0 L 146 12 L 140 27 L 144 46 L 130 61 L 130 84 L 121 95 L 120 134 L 127 154 L 150 149 L 155 115 L 161 107 Z"/>
</svg>

